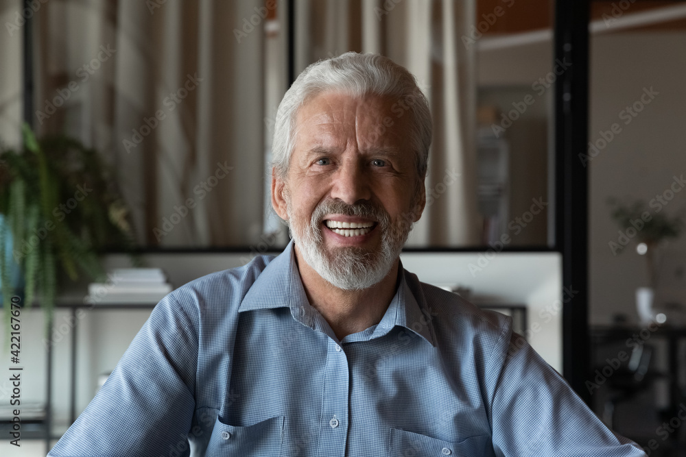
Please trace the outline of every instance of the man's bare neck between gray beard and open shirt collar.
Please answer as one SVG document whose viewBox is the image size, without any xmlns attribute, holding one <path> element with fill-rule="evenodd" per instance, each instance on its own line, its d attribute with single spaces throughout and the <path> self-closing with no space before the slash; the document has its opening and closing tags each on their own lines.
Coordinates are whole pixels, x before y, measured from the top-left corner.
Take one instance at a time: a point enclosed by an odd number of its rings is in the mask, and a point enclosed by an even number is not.
<svg viewBox="0 0 686 457">
<path fill-rule="evenodd" d="M 395 295 L 398 260 L 381 282 L 361 291 L 346 291 L 333 286 L 309 266 L 294 246 L 296 263 L 310 304 L 322 314 L 339 341 L 381 321 Z"/>
</svg>

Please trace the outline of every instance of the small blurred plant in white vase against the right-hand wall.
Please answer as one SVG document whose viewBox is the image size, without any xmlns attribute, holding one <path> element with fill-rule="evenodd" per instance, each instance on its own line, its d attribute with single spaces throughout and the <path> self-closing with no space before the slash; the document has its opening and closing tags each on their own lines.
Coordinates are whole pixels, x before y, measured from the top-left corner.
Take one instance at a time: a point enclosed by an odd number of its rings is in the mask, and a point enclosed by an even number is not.
<svg viewBox="0 0 686 457">
<path fill-rule="evenodd" d="M 648 323 L 654 319 L 652 301 L 659 282 L 657 249 L 665 240 L 678 238 L 684 228 L 683 219 L 680 214 L 670 217 L 663 211 L 652 211 L 643 200 L 621 201 L 613 197 L 608 199 L 608 205 L 613 221 L 620 227 L 618 243 L 610 242 L 613 254 L 624 251 L 630 239 L 635 238 L 638 254 L 646 256 L 648 285 L 637 288 L 636 305 L 641 321 Z"/>
</svg>

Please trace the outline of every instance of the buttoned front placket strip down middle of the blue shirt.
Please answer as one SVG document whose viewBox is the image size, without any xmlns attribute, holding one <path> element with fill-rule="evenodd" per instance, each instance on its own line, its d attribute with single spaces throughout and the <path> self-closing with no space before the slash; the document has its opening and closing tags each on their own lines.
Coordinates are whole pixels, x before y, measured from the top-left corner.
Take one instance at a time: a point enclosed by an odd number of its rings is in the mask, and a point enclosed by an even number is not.
<svg viewBox="0 0 686 457">
<path fill-rule="evenodd" d="M 322 425 L 319 437 L 318 456 L 345 456 L 348 436 L 348 358 L 344 349 L 328 338 L 327 369 L 324 378 L 324 399 L 322 404 Z"/>
</svg>

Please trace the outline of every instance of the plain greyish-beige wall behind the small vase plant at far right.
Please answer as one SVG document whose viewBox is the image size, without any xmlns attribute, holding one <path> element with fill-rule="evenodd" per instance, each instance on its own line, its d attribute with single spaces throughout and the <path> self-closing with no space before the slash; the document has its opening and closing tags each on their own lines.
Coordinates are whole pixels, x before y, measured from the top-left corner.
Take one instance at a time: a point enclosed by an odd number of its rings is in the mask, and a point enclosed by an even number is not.
<svg viewBox="0 0 686 457">
<path fill-rule="evenodd" d="M 617 256 L 609 249 L 608 243 L 616 242 L 619 235 L 606 199 L 650 201 L 669 188 L 674 175 L 686 174 L 684 75 L 683 32 L 634 32 L 591 39 L 589 139 L 595 142 L 600 131 L 613 123 L 622 128 L 589 164 L 592 323 L 610 323 L 616 313 L 636 319 L 635 288 L 646 285 L 646 264 L 636 254 L 635 243 Z M 651 87 L 659 95 L 626 125 L 620 113 L 640 99 L 643 88 Z M 674 214 L 678 208 L 686 208 L 686 192 L 677 193 L 663 210 Z M 686 236 L 667 249 L 686 250 Z"/>
</svg>

